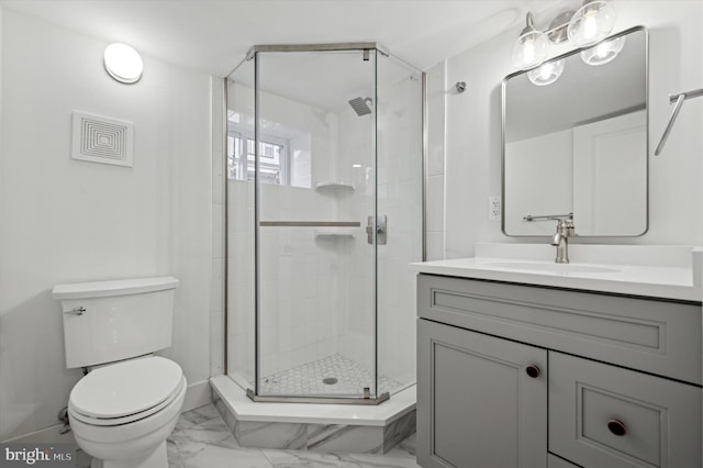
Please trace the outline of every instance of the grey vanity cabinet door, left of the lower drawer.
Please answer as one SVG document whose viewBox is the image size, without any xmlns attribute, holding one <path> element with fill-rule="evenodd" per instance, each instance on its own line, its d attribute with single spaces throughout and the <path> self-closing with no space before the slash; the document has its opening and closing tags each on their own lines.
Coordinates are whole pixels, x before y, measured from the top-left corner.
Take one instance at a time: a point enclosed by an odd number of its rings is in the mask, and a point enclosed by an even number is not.
<svg viewBox="0 0 703 468">
<path fill-rule="evenodd" d="M 419 320 L 417 353 L 421 466 L 547 466 L 545 349 Z"/>
</svg>

